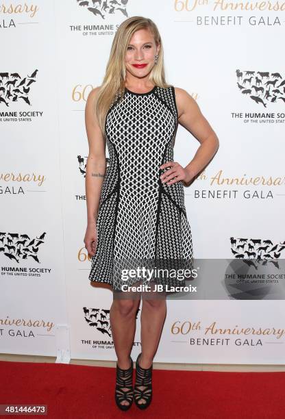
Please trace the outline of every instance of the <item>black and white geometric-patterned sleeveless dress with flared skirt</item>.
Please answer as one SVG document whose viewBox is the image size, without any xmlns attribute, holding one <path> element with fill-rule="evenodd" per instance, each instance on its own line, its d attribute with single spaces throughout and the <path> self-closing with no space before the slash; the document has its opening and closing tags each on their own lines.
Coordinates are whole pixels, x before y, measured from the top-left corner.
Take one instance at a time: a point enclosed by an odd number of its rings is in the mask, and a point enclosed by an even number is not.
<svg viewBox="0 0 285 419">
<path fill-rule="evenodd" d="M 193 244 L 184 205 L 184 186 L 160 181 L 165 162 L 173 162 L 178 125 L 173 86 L 154 86 L 136 93 L 125 88 L 116 94 L 106 116 L 106 168 L 97 214 L 97 248 L 91 259 L 90 281 L 121 286 L 138 277 L 122 279 L 121 268 L 192 268 Z M 140 266 L 141 266 L 140 265 Z M 173 272 L 172 272 L 173 273 Z M 141 277 L 140 277 L 141 278 Z M 170 287 L 184 279 L 151 281 Z M 144 277 L 145 280 L 145 277 Z M 145 281 L 145 283 L 149 283 Z M 185 285 L 185 284 L 184 284 Z"/>
</svg>

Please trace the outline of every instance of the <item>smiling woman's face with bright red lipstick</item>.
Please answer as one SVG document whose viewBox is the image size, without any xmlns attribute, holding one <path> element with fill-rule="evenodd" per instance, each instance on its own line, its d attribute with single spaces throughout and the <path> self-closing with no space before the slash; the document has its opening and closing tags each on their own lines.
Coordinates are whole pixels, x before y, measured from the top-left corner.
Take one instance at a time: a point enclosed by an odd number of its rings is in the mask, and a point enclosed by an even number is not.
<svg viewBox="0 0 285 419">
<path fill-rule="evenodd" d="M 125 66 L 129 73 L 136 77 L 145 77 L 154 66 L 155 55 L 159 52 L 159 46 L 149 29 L 138 29 L 127 46 Z M 146 64 L 143 66 L 143 64 Z M 138 66 L 139 65 L 139 66 Z"/>
</svg>

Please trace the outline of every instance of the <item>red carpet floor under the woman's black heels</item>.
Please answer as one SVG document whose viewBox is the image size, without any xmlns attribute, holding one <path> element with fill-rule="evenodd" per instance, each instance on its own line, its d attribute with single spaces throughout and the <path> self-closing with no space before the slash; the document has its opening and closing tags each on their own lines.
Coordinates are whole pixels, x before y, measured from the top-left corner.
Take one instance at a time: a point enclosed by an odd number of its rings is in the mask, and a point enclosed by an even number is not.
<svg viewBox="0 0 285 419">
<path fill-rule="evenodd" d="M 38 418 L 285 417 L 284 372 L 153 370 L 151 406 L 126 412 L 114 403 L 114 368 L 0 361 L 0 377 L 0 404 L 48 405 Z"/>
</svg>

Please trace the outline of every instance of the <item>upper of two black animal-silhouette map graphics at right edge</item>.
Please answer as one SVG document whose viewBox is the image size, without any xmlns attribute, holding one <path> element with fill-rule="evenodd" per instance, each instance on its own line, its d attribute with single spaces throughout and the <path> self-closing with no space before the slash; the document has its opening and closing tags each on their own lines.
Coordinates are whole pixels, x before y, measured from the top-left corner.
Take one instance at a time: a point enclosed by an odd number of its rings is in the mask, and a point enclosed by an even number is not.
<svg viewBox="0 0 285 419">
<path fill-rule="evenodd" d="M 277 99 L 285 102 L 285 89 L 280 90 L 285 85 L 285 78 L 280 73 L 237 69 L 236 77 L 240 92 L 245 96 L 249 95 L 249 98 L 257 105 L 267 107 L 267 103 L 277 103 Z M 280 79 L 282 79 L 281 82 Z M 279 83 L 278 86 L 277 83 Z"/>
</svg>

